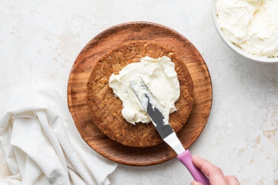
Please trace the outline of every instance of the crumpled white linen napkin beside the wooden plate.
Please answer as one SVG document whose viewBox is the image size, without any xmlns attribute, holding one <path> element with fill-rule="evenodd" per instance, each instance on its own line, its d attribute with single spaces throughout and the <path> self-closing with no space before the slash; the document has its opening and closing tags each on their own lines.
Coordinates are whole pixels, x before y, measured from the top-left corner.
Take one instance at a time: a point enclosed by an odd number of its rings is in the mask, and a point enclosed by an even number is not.
<svg viewBox="0 0 278 185">
<path fill-rule="evenodd" d="M 0 184 L 107 185 L 117 167 L 83 141 L 61 96 L 45 83 L 12 92 L 0 143 L 12 173 Z"/>
</svg>

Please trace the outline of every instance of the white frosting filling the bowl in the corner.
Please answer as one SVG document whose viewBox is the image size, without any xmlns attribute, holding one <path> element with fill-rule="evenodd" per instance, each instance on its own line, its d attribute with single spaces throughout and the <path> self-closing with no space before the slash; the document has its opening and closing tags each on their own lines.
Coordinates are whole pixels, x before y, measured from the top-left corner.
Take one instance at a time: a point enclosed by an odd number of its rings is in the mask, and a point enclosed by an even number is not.
<svg viewBox="0 0 278 185">
<path fill-rule="evenodd" d="M 216 0 L 224 35 L 244 51 L 278 57 L 278 0 Z"/>
</svg>

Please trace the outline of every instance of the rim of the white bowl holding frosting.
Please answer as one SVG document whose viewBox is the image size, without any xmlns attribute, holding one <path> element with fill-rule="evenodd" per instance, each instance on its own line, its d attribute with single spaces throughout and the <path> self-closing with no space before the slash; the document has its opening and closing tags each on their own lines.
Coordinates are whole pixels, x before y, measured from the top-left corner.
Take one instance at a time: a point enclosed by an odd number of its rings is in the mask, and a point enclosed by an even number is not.
<svg viewBox="0 0 278 185">
<path fill-rule="evenodd" d="M 215 8 L 215 0 L 211 0 L 211 14 L 212 14 L 212 19 L 213 19 L 213 23 L 215 25 L 215 28 L 219 34 L 219 36 L 221 37 L 221 39 L 224 41 L 224 43 L 230 47 L 234 52 L 236 52 L 237 54 L 250 59 L 252 61 L 256 61 L 256 62 L 264 62 L 264 63 L 275 63 L 278 62 L 278 57 L 276 58 L 263 58 L 263 57 L 258 57 L 255 55 L 251 55 L 248 52 L 245 52 L 244 50 L 242 50 L 241 48 L 237 47 L 236 45 L 234 45 L 231 41 L 229 41 L 225 35 L 223 34 L 222 30 L 219 27 L 218 24 L 218 20 L 217 20 L 217 15 L 216 15 L 216 8 Z"/>
</svg>

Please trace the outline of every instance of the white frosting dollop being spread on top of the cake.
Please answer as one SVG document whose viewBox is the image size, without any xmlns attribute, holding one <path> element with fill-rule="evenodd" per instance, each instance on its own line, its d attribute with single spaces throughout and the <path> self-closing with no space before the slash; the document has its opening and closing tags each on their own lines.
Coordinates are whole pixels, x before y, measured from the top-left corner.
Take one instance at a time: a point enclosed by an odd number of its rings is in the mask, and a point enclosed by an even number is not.
<svg viewBox="0 0 278 185">
<path fill-rule="evenodd" d="M 175 102 L 180 97 L 175 64 L 166 56 L 158 59 L 144 57 L 140 62 L 125 66 L 118 75 L 110 76 L 109 86 L 123 102 L 123 117 L 132 124 L 149 123 L 150 118 L 131 88 L 131 80 L 134 77 L 142 78 L 168 122 L 169 114 L 177 110 Z"/>
</svg>

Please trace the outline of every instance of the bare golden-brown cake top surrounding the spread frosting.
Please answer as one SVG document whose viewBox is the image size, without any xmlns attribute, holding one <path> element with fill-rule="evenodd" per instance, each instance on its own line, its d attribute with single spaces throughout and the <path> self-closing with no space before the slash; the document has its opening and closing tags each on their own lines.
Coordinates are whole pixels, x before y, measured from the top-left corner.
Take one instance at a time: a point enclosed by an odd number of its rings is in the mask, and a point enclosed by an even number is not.
<svg viewBox="0 0 278 185">
<path fill-rule="evenodd" d="M 182 59 L 174 51 L 148 41 L 133 41 L 119 45 L 106 53 L 92 70 L 87 83 L 87 102 L 93 122 L 110 139 L 126 146 L 148 147 L 163 140 L 151 123 L 128 123 L 122 116 L 122 101 L 114 96 L 109 78 L 126 65 L 143 57 L 157 59 L 167 56 L 175 64 L 180 84 L 177 111 L 169 115 L 169 123 L 178 132 L 187 122 L 193 108 L 193 81 Z"/>
</svg>

